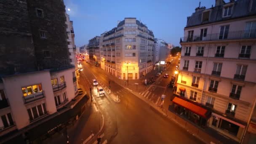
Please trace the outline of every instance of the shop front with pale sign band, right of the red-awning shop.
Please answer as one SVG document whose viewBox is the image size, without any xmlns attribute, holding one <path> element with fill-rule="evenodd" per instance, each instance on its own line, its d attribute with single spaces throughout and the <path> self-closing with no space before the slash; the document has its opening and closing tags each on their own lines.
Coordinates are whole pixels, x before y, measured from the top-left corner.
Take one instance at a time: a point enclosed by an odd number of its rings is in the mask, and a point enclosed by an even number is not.
<svg viewBox="0 0 256 144">
<path fill-rule="evenodd" d="M 209 127 L 218 131 L 219 133 L 234 139 L 237 142 L 243 137 L 246 123 L 231 120 L 222 115 L 213 113 L 209 118 Z"/>
</svg>

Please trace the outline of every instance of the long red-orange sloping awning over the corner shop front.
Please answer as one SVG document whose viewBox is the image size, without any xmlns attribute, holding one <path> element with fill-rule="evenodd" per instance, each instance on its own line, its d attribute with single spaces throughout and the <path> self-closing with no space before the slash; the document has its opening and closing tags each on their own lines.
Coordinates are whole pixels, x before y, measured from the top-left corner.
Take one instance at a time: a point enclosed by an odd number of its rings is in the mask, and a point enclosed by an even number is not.
<svg viewBox="0 0 256 144">
<path fill-rule="evenodd" d="M 173 99 L 173 103 L 178 104 L 181 107 L 184 107 L 185 109 L 189 109 L 191 112 L 194 112 L 195 114 L 200 115 L 201 117 L 206 118 L 205 114 L 207 112 L 207 109 L 199 107 L 199 106 L 197 106 L 195 104 L 192 104 L 189 101 L 185 101 L 184 99 L 181 99 L 181 98 L 178 98 L 178 97 L 175 97 Z"/>
</svg>

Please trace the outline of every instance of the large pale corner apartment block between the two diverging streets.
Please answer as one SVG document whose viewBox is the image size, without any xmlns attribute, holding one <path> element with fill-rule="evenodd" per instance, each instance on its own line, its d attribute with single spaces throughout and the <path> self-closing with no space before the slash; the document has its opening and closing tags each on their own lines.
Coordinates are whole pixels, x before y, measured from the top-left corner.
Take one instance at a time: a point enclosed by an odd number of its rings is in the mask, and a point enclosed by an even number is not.
<svg viewBox="0 0 256 144">
<path fill-rule="evenodd" d="M 101 66 L 120 79 L 139 79 L 153 69 L 154 35 L 136 18 L 125 18 L 101 34 Z"/>
</svg>

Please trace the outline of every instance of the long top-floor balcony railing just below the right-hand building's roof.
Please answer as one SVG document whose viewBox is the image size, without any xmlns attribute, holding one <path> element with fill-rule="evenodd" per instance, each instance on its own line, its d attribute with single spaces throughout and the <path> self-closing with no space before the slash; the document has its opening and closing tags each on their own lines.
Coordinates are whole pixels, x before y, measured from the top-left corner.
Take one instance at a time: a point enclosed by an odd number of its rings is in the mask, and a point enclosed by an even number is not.
<svg viewBox="0 0 256 144">
<path fill-rule="evenodd" d="M 208 34 L 205 37 L 196 35 L 193 37 L 181 37 L 181 43 L 196 42 L 196 41 L 211 41 L 211 40 L 237 40 L 237 39 L 250 39 L 256 38 L 256 29 L 243 30 L 236 32 L 228 32 L 228 34 Z"/>
</svg>

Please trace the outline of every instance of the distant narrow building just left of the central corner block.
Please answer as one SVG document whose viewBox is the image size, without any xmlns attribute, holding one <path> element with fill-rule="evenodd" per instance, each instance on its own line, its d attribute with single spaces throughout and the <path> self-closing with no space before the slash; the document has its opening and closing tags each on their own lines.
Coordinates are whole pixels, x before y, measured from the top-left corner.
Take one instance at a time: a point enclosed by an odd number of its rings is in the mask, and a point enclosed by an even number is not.
<svg viewBox="0 0 256 144">
<path fill-rule="evenodd" d="M 91 64 L 95 65 L 96 67 L 99 67 L 101 64 L 99 40 L 100 40 L 99 36 L 93 37 L 91 40 L 89 40 L 89 43 L 87 45 L 89 61 Z"/>
</svg>

